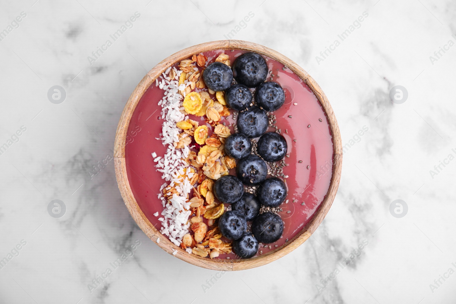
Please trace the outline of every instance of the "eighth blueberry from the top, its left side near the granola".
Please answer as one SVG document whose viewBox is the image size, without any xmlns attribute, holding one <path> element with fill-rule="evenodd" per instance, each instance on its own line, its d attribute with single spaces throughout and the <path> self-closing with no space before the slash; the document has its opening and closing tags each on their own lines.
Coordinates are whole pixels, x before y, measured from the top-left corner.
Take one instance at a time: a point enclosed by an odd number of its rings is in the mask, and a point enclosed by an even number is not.
<svg viewBox="0 0 456 304">
<path fill-rule="evenodd" d="M 256 155 L 250 154 L 238 161 L 236 173 L 239 180 L 245 185 L 255 185 L 261 183 L 268 175 L 268 166 Z"/>
</svg>

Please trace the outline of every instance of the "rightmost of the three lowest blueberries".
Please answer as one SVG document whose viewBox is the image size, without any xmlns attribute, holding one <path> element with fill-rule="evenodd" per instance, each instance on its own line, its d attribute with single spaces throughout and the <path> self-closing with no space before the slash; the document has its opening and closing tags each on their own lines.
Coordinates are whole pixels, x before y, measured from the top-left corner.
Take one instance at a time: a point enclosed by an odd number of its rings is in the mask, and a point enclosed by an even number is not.
<svg viewBox="0 0 456 304">
<path fill-rule="evenodd" d="M 268 244 L 277 241 L 284 232 L 282 218 L 272 212 L 264 212 L 252 223 L 252 232 L 258 242 Z"/>
</svg>

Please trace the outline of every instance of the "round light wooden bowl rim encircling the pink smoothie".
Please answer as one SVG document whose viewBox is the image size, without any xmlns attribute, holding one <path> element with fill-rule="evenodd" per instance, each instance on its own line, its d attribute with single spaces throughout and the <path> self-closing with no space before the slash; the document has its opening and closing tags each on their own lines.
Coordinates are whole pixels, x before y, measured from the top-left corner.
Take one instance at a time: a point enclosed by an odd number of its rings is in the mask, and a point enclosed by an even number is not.
<svg viewBox="0 0 456 304">
<path fill-rule="evenodd" d="M 309 88 L 315 94 L 318 101 L 321 103 L 321 107 L 326 113 L 326 117 L 328 119 L 330 130 L 332 133 L 332 178 L 326 196 L 324 200 L 321 202 L 320 207 L 315 212 L 311 221 L 308 222 L 308 224 L 301 230 L 301 232 L 299 232 L 289 242 L 285 243 L 284 246 L 278 247 L 274 251 L 265 253 L 264 255 L 250 259 L 226 260 L 201 258 L 194 254 L 188 254 L 180 247 L 175 246 L 170 240 L 168 240 L 166 237 L 163 237 L 161 233 L 157 229 L 155 229 L 155 227 L 149 222 L 144 213 L 141 211 L 140 207 L 138 206 L 135 200 L 135 196 L 133 195 L 132 190 L 130 188 L 130 183 L 126 171 L 125 142 L 127 136 L 127 129 L 130 124 L 130 119 L 133 114 L 133 111 L 135 110 L 136 105 L 140 101 L 146 89 L 149 88 L 149 86 L 155 82 L 155 79 L 159 77 L 162 72 L 165 72 L 165 70 L 168 67 L 175 64 L 176 62 L 180 62 L 183 59 L 192 57 L 193 54 L 217 49 L 239 49 L 250 52 L 257 52 L 265 56 L 268 56 L 289 67 L 296 75 L 298 75 L 298 77 L 300 77 L 309 86 Z M 153 242 L 155 242 L 158 246 L 160 246 L 163 250 L 170 254 L 172 254 L 173 251 L 177 249 L 178 252 L 176 253 L 176 257 L 193 265 L 214 270 L 242 270 L 258 267 L 285 256 L 285 254 L 290 253 L 303 242 L 305 242 L 315 231 L 318 225 L 320 225 L 321 221 L 323 221 L 323 218 L 326 216 L 326 213 L 329 211 L 332 202 L 334 201 L 334 197 L 336 196 L 337 188 L 339 186 L 342 171 L 342 141 L 336 117 L 334 116 L 331 105 L 328 99 L 326 98 L 325 93 L 323 93 L 320 86 L 315 82 L 315 80 L 312 77 L 310 77 L 310 75 L 300 66 L 298 66 L 295 62 L 291 61 L 289 58 L 283 56 L 282 54 L 275 52 L 274 50 L 271 50 L 265 46 L 261 46 L 253 42 L 239 40 L 212 41 L 188 47 L 184 50 L 181 50 L 171 55 L 170 57 L 167 57 L 165 60 L 161 61 L 154 68 L 152 68 L 147 73 L 147 75 L 145 75 L 145 77 L 140 81 L 138 86 L 130 95 L 130 98 L 128 99 L 127 104 L 125 105 L 124 111 L 122 112 L 122 115 L 119 120 L 119 125 L 117 127 L 114 143 L 114 167 L 117 182 L 119 184 L 119 190 L 124 199 L 125 206 L 127 206 L 128 211 L 130 211 L 131 216 L 138 224 L 138 226 L 141 228 L 141 230 Z M 160 237 L 161 242 L 156 242 L 157 237 Z"/>
</svg>

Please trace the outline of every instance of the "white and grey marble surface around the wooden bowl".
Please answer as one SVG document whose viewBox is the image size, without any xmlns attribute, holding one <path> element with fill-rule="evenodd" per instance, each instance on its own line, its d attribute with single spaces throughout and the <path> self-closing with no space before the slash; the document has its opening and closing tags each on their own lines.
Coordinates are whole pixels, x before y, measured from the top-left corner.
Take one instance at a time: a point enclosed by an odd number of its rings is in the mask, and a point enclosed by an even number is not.
<svg viewBox="0 0 456 304">
<path fill-rule="evenodd" d="M 0 303 L 455 303 L 455 2 L 277 3 L 1 2 L 0 258 L 10 260 L 0 269 Z M 150 242 L 106 159 L 146 71 L 227 37 L 273 48 L 310 72 L 332 103 L 345 153 L 334 204 L 307 242 L 268 265 L 222 274 Z M 98 47 L 106 51 L 88 59 Z M 66 92 L 60 104 L 47 96 L 56 85 Z M 403 103 L 389 98 L 397 85 L 408 92 Z M 60 218 L 47 212 L 55 199 L 66 206 Z M 408 206 L 401 218 L 390 212 L 397 199 Z M 221 278 L 209 286 L 213 277 Z"/>
</svg>

